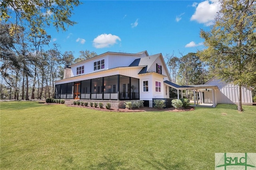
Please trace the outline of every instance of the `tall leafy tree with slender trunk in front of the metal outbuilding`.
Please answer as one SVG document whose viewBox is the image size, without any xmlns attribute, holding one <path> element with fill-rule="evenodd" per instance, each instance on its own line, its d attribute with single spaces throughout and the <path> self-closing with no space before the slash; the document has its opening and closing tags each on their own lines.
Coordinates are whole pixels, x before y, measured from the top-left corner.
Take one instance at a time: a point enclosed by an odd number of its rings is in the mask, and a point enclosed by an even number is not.
<svg viewBox="0 0 256 170">
<path fill-rule="evenodd" d="M 216 75 L 238 85 L 238 111 L 242 111 L 242 86 L 256 85 L 256 1 L 221 0 L 210 31 L 200 31 L 208 47 L 198 54 Z"/>
</svg>

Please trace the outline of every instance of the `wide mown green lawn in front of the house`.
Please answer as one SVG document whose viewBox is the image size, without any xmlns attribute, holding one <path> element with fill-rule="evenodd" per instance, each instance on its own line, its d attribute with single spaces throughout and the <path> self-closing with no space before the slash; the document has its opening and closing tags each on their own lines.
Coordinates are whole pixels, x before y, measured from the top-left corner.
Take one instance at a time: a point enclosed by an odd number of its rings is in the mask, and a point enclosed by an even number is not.
<svg viewBox="0 0 256 170">
<path fill-rule="evenodd" d="M 243 109 L 117 113 L 1 102 L 0 169 L 214 169 L 216 152 L 256 152 L 256 106 Z"/>
</svg>

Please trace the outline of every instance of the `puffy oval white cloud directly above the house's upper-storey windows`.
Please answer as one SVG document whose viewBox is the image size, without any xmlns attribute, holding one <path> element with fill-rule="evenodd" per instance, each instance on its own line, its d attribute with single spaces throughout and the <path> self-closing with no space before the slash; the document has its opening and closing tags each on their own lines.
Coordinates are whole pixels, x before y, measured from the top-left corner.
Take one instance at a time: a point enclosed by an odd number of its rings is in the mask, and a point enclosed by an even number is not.
<svg viewBox="0 0 256 170">
<path fill-rule="evenodd" d="M 121 41 L 121 39 L 118 36 L 112 34 L 101 34 L 98 37 L 94 38 L 93 46 L 96 48 L 109 47 L 111 45 L 116 44 L 117 40 Z"/>
</svg>

